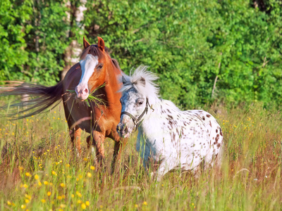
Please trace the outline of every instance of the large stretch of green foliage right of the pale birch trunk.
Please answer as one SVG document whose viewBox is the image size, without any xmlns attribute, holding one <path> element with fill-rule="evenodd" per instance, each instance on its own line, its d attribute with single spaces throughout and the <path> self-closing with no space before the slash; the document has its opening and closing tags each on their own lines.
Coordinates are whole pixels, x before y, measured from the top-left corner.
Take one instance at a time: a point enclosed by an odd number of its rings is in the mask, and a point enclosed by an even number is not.
<svg viewBox="0 0 282 211">
<path fill-rule="evenodd" d="M 161 96 L 185 108 L 214 100 L 280 105 L 281 1 L 266 5 L 269 13 L 246 1 L 100 1 L 85 25 L 91 36 L 99 25 L 125 72 L 149 65 Z"/>
</svg>

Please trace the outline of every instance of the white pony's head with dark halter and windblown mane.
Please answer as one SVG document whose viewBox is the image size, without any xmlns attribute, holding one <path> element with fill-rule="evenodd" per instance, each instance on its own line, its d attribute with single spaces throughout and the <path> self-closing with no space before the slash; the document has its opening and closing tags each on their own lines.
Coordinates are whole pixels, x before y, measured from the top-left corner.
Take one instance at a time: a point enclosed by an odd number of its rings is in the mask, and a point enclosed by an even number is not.
<svg viewBox="0 0 282 211">
<path fill-rule="evenodd" d="M 147 66 L 140 65 L 132 76 L 123 75 L 121 81 L 121 121 L 117 132 L 120 136 L 128 137 L 146 115 L 149 106 L 159 98 L 159 88 L 154 84 L 158 77 L 147 71 Z"/>
</svg>

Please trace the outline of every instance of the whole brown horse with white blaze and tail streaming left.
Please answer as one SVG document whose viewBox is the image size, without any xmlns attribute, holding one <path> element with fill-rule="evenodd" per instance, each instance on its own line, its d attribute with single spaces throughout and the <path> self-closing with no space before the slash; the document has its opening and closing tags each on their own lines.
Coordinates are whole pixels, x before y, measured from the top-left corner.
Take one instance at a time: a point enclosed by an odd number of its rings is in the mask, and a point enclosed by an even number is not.
<svg viewBox="0 0 282 211">
<path fill-rule="evenodd" d="M 80 132 L 85 130 L 90 133 L 87 137 L 87 146 L 92 143 L 96 147 L 97 160 L 102 164 L 104 160 L 104 139 L 109 137 L 115 141 L 114 159 L 112 170 L 125 141 L 121 139 L 116 132 L 116 126 L 121 116 L 121 103 L 119 99 L 121 94 L 118 90 L 121 84 L 118 77 L 122 71 L 118 62 L 112 59 L 105 50 L 104 40 L 98 37 L 97 45 L 90 45 L 83 37 L 84 51 L 80 56 L 80 62 L 73 65 L 68 70 L 63 81 L 54 87 L 44 87 L 36 84 L 21 84 L 7 95 L 35 96 L 29 101 L 23 102 L 27 108 L 20 112 L 23 114 L 33 110 L 27 117 L 42 112 L 49 106 L 52 106 L 63 99 L 63 108 L 65 110 L 66 120 L 70 130 L 71 141 L 76 145 L 80 155 Z M 69 91 L 73 91 L 71 94 Z M 74 93 L 75 91 L 75 93 Z M 99 101 L 87 101 L 89 95 L 97 96 Z M 85 102 L 87 101 L 87 103 Z M 18 107 L 18 103 L 12 106 Z"/>
</svg>

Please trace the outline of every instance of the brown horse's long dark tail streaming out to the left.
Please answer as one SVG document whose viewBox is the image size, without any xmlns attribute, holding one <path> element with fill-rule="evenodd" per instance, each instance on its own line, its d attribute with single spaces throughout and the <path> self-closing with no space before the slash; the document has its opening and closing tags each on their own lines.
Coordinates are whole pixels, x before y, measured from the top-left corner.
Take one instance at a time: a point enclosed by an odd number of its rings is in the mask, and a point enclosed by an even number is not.
<svg viewBox="0 0 282 211">
<path fill-rule="evenodd" d="M 23 83 L 8 88 L 0 88 L 0 96 L 28 96 L 27 99 L 23 98 L 20 102 L 13 101 L 11 105 L 8 104 L 0 108 L 0 110 L 10 110 L 9 114 L 5 116 L 11 117 L 12 120 L 36 115 L 50 106 L 54 108 L 60 103 L 63 95 L 63 82 L 59 82 L 54 87 Z"/>
</svg>

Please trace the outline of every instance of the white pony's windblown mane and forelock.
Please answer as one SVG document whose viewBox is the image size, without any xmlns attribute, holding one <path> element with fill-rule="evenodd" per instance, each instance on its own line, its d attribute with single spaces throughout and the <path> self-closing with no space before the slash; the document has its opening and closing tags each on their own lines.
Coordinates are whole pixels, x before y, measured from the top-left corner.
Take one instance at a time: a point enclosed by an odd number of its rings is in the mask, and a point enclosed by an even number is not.
<svg viewBox="0 0 282 211">
<path fill-rule="evenodd" d="M 158 79 L 157 75 L 153 72 L 147 71 L 148 66 L 140 65 L 133 75 L 123 75 L 121 81 L 123 87 L 121 92 L 128 91 L 128 89 L 134 88 L 138 93 L 146 96 L 150 103 L 154 103 L 159 98 L 159 87 L 154 83 L 154 80 Z M 130 71 L 131 74 L 131 71 Z M 144 82 L 145 79 L 145 82 Z"/>
</svg>

